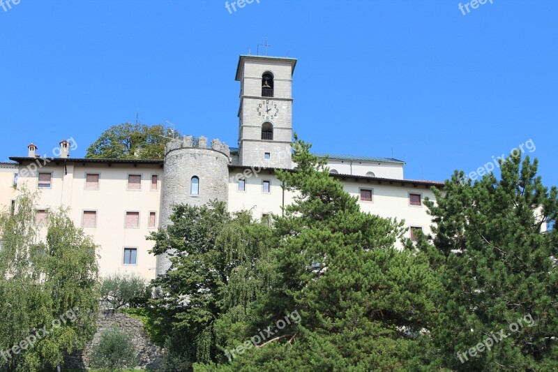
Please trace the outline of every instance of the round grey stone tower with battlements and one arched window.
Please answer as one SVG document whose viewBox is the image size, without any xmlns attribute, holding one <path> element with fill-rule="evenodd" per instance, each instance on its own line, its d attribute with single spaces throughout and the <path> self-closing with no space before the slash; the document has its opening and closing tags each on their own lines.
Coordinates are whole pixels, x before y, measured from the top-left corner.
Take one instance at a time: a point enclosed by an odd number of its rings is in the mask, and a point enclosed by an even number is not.
<svg viewBox="0 0 558 372">
<path fill-rule="evenodd" d="M 166 228 L 174 204 L 202 206 L 213 200 L 227 202 L 229 194 L 230 151 L 227 144 L 199 137 L 197 147 L 193 137 L 172 140 L 165 147 L 165 168 L 161 188 L 160 228 Z M 157 256 L 157 275 L 170 267 L 167 255 Z"/>
</svg>

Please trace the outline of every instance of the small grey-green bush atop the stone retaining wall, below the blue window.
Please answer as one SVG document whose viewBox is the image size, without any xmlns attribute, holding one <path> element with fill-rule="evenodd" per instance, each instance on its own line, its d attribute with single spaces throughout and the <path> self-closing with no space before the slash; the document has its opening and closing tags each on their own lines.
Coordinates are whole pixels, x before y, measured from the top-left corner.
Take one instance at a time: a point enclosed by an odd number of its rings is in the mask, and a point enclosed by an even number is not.
<svg viewBox="0 0 558 372">
<path fill-rule="evenodd" d="M 140 275 L 112 274 L 101 279 L 100 295 L 113 308 L 121 308 L 130 302 L 142 302 L 142 298 L 149 297 L 149 288 Z"/>
</svg>

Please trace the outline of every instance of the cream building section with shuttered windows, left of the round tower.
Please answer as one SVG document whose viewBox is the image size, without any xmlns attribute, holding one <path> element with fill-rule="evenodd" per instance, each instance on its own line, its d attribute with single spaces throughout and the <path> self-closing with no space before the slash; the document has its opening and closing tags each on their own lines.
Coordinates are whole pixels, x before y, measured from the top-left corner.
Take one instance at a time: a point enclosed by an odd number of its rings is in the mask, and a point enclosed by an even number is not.
<svg viewBox="0 0 558 372">
<path fill-rule="evenodd" d="M 20 170 L 33 163 L 17 160 Z M 101 275 L 120 271 L 154 278 L 156 258 L 148 253 L 153 241 L 145 237 L 159 224 L 161 163 L 55 159 L 36 172 L 20 171 L 17 187 L 38 192 L 39 224 L 52 209 L 68 207 L 75 225 L 100 246 Z"/>
</svg>

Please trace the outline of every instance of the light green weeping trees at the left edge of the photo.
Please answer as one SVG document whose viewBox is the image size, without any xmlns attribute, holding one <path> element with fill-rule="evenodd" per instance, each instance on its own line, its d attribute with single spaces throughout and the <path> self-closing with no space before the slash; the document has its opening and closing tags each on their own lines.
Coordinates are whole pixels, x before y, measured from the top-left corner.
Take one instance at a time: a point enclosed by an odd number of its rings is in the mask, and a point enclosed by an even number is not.
<svg viewBox="0 0 558 372">
<path fill-rule="evenodd" d="M 0 359 L 4 371 L 56 366 L 96 330 L 97 247 L 63 210 L 50 211 L 40 235 L 35 206 L 36 195 L 22 188 L 13 216 L 0 214 L 0 317 L 9 320 L 0 322 L 0 350 L 10 355 Z M 8 350 L 26 339 L 31 347 Z"/>
</svg>

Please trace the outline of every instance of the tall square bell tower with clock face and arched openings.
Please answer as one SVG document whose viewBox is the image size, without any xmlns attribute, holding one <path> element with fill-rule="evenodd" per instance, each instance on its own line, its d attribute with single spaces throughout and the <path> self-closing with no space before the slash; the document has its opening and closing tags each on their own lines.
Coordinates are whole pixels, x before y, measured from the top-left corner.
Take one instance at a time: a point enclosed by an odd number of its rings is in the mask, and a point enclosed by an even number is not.
<svg viewBox="0 0 558 372">
<path fill-rule="evenodd" d="M 292 74 L 296 59 L 240 56 L 239 162 L 292 168 Z"/>
</svg>

